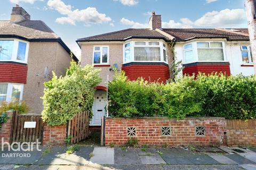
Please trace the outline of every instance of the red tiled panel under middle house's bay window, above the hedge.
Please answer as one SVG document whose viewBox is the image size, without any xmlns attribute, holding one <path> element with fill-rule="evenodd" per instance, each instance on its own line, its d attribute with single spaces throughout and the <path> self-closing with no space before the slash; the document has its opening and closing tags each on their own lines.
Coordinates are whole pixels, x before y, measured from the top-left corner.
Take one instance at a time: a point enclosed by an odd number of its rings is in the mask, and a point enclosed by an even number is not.
<svg viewBox="0 0 256 170">
<path fill-rule="evenodd" d="M 149 82 L 165 82 L 170 78 L 169 67 L 167 65 L 127 65 L 122 66 L 125 75 L 129 80 L 136 80 L 140 77 Z"/>
</svg>

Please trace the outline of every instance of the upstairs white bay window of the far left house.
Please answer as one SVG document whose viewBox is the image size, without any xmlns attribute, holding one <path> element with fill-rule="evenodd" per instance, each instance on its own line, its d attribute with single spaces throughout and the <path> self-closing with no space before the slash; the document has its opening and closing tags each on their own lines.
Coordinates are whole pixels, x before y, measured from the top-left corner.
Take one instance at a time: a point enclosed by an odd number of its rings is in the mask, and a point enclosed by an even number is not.
<svg viewBox="0 0 256 170">
<path fill-rule="evenodd" d="M 27 63 L 29 43 L 19 39 L 0 39 L 0 61 Z"/>
</svg>

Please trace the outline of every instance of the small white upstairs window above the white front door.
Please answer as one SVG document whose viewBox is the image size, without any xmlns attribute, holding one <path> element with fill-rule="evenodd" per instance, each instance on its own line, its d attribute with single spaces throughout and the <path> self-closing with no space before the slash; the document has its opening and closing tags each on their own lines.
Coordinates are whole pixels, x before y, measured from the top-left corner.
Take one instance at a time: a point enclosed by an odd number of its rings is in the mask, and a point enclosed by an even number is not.
<svg viewBox="0 0 256 170">
<path fill-rule="evenodd" d="M 94 46 L 92 62 L 93 64 L 108 64 L 109 63 L 109 47 Z"/>
</svg>

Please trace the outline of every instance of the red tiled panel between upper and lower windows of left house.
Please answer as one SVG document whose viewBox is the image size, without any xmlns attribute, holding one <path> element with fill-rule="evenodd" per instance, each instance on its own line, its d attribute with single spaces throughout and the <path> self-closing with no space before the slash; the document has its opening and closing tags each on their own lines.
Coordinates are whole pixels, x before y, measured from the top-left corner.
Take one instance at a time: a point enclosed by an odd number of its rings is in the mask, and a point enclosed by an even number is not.
<svg viewBox="0 0 256 170">
<path fill-rule="evenodd" d="M 0 82 L 27 82 L 26 64 L 0 63 Z"/>
</svg>

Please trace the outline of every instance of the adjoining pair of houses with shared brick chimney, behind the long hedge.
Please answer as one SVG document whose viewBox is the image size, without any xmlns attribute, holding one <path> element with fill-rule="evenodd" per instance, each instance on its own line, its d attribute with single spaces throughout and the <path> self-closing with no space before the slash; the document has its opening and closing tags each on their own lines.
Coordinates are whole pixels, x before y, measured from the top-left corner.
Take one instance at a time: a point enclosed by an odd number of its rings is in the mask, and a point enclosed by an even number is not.
<svg viewBox="0 0 256 170">
<path fill-rule="evenodd" d="M 143 77 L 164 82 L 171 74 L 173 41 L 183 74 L 254 73 L 247 29 L 164 29 L 161 15 L 153 12 L 148 29 L 125 29 L 77 40 L 81 64 L 102 69 L 91 125 L 101 125 L 101 117 L 106 115 L 106 83 L 114 75 L 111 67 L 124 70 L 130 80 Z"/>
</svg>

